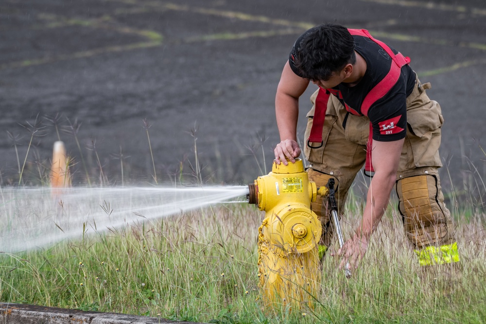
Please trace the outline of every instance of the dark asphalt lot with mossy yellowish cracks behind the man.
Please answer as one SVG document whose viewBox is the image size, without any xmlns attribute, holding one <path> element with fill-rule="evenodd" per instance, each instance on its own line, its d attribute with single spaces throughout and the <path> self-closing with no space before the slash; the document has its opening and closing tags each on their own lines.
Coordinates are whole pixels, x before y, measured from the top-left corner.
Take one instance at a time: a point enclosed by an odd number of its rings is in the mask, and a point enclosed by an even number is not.
<svg viewBox="0 0 486 324">
<path fill-rule="evenodd" d="M 322 22 L 368 29 L 410 56 L 421 81 L 432 83 L 428 94 L 446 120 L 444 188 L 450 189 L 449 174 L 459 189 L 471 175 L 484 179 L 482 0 L 1 0 L 2 185 L 18 181 L 7 131 L 17 137 L 22 165 L 31 134 L 19 123 L 33 124 L 37 115 L 46 128 L 35 133 L 26 179 L 49 165 L 57 135 L 46 117 L 57 115 L 61 128 L 80 124 L 77 138 L 92 175 L 96 155 L 87 147 L 95 141 L 112 184 L 121 180 L 120 152 L 126 182 L 153 182 L 142 119 L 151 124 L 159 179 L 177 177 L 181 161 L 183 172 L 191 172 L 191 129 L 197 129 L 205 175 L 227 184 L 252 182 L 260 171 L 248 147 L 263 164 L 258 145 L 264 139 L 269 168 L 279 141 L 274 97 L 289 50 L 299 34 Z M 309 95 L 300 102 L 300 137 Z M 85 183 L 74 136 L 60 136 L 78 162 L 74 182 Z"/>
</svg>

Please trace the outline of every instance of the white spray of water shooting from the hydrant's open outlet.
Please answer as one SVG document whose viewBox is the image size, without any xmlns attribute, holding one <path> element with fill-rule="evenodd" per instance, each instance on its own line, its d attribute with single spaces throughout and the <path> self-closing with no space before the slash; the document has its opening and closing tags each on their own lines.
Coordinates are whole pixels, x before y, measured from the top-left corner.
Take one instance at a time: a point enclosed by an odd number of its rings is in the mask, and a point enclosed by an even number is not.
<svg viewBox="0 0 486 324">
<path fill-rule="evenodd" d="M 83 234 L 103 232 L 235 200 L 246 186 L 198 188 L 2 188 L 0 252 L 47 247 Z M 83 233 L 84 232 L 84 233 Z"/>
</svg>

